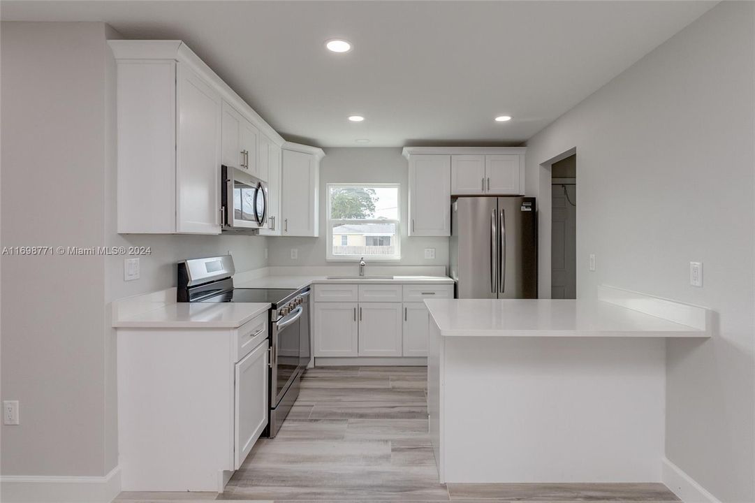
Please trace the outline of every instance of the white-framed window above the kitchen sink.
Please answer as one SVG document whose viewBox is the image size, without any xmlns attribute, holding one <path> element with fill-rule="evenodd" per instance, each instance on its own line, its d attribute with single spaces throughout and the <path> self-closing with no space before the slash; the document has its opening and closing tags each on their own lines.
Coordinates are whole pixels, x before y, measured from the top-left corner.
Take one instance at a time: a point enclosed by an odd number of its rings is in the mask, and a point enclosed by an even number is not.
<svg viewBox="0 0 755 503">
<path fill-rule="evenodd" d="M 398 184 L 328 184 L 328 260 L 401 258 Z"/>
</svg>

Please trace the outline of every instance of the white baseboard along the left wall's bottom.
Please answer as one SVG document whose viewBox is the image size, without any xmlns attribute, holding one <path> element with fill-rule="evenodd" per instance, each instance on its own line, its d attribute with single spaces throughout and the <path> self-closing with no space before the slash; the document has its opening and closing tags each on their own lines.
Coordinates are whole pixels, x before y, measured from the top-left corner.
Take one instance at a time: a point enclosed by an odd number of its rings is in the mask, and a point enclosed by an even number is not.
<svg viewBox="0 0 755 503">
<path fill-rule="evenodd" d="M 121 468 L 104 477 L 0 477 L 3 503 L 110 503 L 121 492 Z"/>
</svg>

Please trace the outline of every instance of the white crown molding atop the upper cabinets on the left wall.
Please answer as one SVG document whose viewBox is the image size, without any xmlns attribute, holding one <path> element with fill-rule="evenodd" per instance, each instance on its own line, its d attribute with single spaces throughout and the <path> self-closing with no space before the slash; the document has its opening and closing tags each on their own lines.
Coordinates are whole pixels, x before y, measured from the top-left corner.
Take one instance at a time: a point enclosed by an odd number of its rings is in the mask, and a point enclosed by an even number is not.
<svg viewBox="0 0 755 503">
<path fill-rule="evenodd" d="M 223 79 L 217 76 L 217 73 L 202 61 L 199 56 L 194 54 L 188 45 L 180 40 L 108 40 L 108 45 L 112 50 L 116 60 L 175 60 L 180 63 L 186 63 L 202 79 L 210 82 L 223 100 L 239 111 L 249 122 L 257 126 L 273 143 L 282 146 L 285 143 L 283 137 L 278 131 L 273 129 L 265 119 L 254 111 L 236 91 L 233 91 Z"/>
</svg>

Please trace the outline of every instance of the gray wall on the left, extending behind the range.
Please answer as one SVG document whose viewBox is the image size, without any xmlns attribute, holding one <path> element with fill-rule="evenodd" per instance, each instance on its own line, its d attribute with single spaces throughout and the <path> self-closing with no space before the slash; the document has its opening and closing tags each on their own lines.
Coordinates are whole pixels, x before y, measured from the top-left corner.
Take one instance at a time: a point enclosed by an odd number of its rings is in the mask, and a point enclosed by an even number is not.
<svg viewBox="0 0 755 503">
<path fill-rule="evenodd" d="M 141 279 L 122 257 L 2 257 L 4 475 L 102 476 L 116 466 L 113 299 L 175 285 L 175 263 L 233 252 L 266 265 L 267 239 L 116 234 L 115 65 L 103 23 L 2 23 L 0 244 L 145 245 Z M 103 190 L 104 187 L 104 190 Z M 40 204 L 42 202 L 43 204 Z"/>
</svg>

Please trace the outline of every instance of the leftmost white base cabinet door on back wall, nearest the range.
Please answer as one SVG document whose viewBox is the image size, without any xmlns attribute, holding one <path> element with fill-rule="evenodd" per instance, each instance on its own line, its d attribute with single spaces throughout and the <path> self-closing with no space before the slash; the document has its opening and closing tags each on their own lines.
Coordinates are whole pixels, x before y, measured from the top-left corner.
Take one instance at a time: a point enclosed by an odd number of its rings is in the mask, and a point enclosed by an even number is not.
<svg viewBox="0 0 755 503">
<path fill-rule="evenodd" d="M 313 306 L 314 356 L 358 356 L 356 302 L 315 302 Z"/>
</svg>

